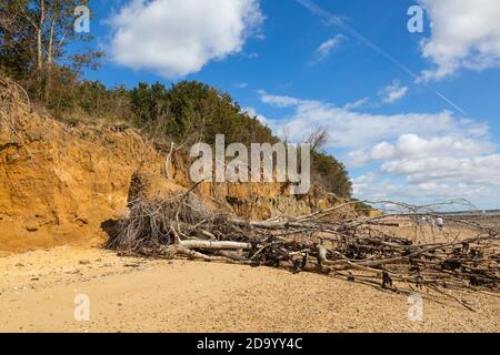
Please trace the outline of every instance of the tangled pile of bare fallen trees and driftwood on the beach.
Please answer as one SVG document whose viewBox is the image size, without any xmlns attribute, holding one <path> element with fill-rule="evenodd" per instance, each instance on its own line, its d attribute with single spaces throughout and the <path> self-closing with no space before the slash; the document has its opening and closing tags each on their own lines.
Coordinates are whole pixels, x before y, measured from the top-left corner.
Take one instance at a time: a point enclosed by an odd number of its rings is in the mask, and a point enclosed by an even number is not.
<svg viewBox="0 0 500 355">
<path fill-rule="evenodd" d="M 191 193 L 166 201 L 136 200 L 109 247 L 122 254 L 326 273 L 391 290 L 398 282 L 411 288 L 500 291 L 500 233 L 494 227 L 444 217 L 453 226 L 441 230 L 422 225 L 436 215 L 416 210 L 334 221 L 331 216 L 342 207 L 346 204 L 249 222 L 209 212 Z M 431 234 L 430 242 L 419 240 L 420 232 L 428 240 Z"/>
</svg>

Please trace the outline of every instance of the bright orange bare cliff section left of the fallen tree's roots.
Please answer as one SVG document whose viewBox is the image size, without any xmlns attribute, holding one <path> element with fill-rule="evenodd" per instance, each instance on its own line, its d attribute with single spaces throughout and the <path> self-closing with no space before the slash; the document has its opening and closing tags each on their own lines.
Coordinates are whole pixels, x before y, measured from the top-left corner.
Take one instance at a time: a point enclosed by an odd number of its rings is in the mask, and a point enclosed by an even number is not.
<svg viewBox="0 0 500 355">
<path fill-rule="evenodd" d="M 99 241 L 100 221 L 124 212 L 133 171 L 159 173 L 160 154 L 133 131 L 30 113 L 12 89 L 0 82 L 0 250 Z"/>
</svg>

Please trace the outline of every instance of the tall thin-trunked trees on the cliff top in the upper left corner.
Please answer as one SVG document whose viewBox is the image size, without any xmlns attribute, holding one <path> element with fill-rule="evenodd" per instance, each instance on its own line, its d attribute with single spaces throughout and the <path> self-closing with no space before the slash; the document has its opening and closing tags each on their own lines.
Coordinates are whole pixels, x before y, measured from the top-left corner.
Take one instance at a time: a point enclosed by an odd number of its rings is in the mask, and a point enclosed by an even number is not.
<svg viewBox="0 0 500 355">
<path fill-rule="evenodd" d="M 48 103 L 58 78 L 54 67 L 80 72 L 96 68 L 101 52 L 84 49 L 69 53 L 77 40 L 91 41 L 88 33 L 76 33 L 73 11 L 88 0 L 13 0 L 0 2 L 0 65 L 14 72 L 38 99 Z M 34 82 L 32 77 L 34 73 Z"/>
</svg>

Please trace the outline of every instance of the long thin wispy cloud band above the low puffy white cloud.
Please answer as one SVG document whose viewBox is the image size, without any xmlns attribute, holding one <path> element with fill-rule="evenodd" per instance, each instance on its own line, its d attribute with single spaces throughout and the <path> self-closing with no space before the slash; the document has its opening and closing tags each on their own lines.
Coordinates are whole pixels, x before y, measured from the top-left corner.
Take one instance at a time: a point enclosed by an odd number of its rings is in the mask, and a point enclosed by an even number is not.
<svg viewBox="0 0 500 355">
<path fill-rule="evenodd" d="M 489 134 L 486 124 L 462 120 L 450 111 L 438 113 L 401 113 L 392 115 L 356 112 L 349 105 L 339 108 L 329 102 L 273 95 L 259 91 L 263 103 L 276 108 L 292 108 L 293 113 L 281 120 L 270 120 L 274 131 L 286 130 L 293 141 L 301 141 L 312 126 L 324 126 L 331 138 L 329 148 L 371 148 L 401 134 L 421 136 L 467 136 L 483 139 Z"/>
</svg>

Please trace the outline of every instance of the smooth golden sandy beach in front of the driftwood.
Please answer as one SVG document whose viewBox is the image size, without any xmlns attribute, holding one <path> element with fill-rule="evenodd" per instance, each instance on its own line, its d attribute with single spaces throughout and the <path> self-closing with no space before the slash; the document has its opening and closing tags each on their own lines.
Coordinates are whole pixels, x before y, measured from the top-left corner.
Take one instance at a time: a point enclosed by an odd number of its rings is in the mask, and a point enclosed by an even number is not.
<svg viewBox="0 0 500 355">
<path fill-rule="evenodd" d="M 331 276 L 62 246 L 0 257 L 0 332 L 499 332 L 500 298 L 408 296 Z M 73 317 L 90 297 L 90 321 Z"/>
</svg>

